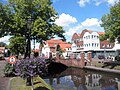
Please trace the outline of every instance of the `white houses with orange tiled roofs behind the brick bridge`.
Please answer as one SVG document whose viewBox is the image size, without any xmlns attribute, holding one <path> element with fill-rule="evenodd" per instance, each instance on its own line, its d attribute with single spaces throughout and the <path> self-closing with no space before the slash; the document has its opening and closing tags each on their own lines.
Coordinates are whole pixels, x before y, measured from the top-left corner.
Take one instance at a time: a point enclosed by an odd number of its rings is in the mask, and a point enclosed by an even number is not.
<svg viewBox="0 0 120 90">
<path fill-rule="evenodd" d="M 67 56 L 71 53 L 71 44 L 57 39 L 47 40 L 42 47 L 42 54 L 47 58 L 49 58 L 50 53 L 53 57 L 56 57 L 58 49 L 61 49 L 63 57 L 67 58 Z"/>
</svg>

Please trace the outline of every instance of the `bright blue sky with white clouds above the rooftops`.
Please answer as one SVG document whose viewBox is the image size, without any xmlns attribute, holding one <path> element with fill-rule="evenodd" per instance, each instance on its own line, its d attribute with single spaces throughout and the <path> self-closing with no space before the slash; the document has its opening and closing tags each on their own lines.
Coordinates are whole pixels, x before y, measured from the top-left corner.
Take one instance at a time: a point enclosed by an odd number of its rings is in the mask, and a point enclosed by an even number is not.
<svg viewBox="0 0 120 90">
<path fill-rule="evenodd" d="M 101 18 L 110 12 L 110 7 L 119 0 L 52 0 L 52 6 L 58 12 L 55 23 L 65 30 L 65 37 L 70 41 L 74 33 L 81 33 L 84 29 L 104 31 L 100 27 Z M 7 0 L 0 0 L 6 3 Z M 8 37 L 0 42 L 8 42 Z"/>
</svg>

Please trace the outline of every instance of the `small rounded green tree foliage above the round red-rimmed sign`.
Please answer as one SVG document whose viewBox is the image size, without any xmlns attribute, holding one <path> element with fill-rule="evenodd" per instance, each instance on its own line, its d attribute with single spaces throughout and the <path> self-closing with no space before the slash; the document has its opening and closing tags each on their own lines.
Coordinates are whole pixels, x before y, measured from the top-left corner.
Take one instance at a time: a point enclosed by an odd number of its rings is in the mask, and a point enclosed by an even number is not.
<svg viewBox="0 0 120 90">
<path fill-rule="evenodd" d="M 24 54 L 25 44 L 26 42 L 24 37 L 16 36 L 10 38 L 10 44 L 8 47 L 10 48 L 10 51 L 13 54 L 19 55 L 19 54 Z"/>
</svg>

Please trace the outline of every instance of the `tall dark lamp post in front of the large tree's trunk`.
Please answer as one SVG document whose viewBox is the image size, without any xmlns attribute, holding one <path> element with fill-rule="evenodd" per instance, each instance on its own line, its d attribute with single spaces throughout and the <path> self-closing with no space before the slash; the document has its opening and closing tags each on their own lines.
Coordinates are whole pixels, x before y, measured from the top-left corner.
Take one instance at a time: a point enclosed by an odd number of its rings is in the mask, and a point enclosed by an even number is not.
<svg viewBox="0 0 120 90">
<path fill-rule="evenodd" d="M 25 58 L 29 57 L 30 58 L 30 54 L 31 54 L 31 29 L 32 29 L 32 22 L 33 19 L 30 17 L 27 20 L 27 29 L 28 31 L 26 32 L 26 53 L 25 53 Z"/>
</svg>

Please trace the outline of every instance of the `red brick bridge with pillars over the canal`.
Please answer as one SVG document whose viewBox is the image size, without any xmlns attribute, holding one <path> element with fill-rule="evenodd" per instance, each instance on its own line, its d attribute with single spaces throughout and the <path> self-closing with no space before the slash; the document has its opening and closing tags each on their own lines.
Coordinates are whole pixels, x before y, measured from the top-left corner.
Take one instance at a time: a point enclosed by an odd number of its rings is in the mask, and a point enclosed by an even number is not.
<svg viewBox="0 0 120 90">
<path fill-rule="evenodd" d="M 73 56 L 70 57 L 70 59 L 60 59 L 59 56 L 57 55 L 56 62 L 62 63 L 68 67 L 79 67 L 83 68 L 85 66 L 85 63 L 88 61 L 92 61 L 92 54 L 91 52 L 87 53 L 87 59 L 85 58 L 85 53 L 81 52 L 80 53 L 80 59 L 74 59 Z"/>
</svg>

